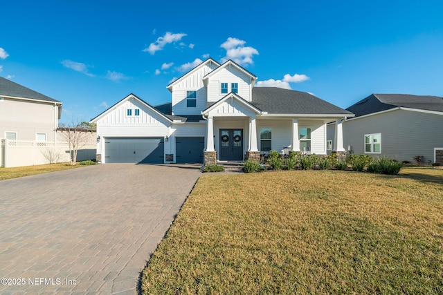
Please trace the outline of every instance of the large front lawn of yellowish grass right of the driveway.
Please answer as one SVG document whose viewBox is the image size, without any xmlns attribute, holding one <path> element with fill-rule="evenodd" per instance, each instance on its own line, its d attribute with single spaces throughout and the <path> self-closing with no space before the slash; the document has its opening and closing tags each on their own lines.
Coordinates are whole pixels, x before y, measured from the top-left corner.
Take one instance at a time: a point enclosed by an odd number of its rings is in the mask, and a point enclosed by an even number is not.
<svg viewBox="0 0 443 295">
<path fill-rule="evenodd" d="M 441 294 L 443 170 L 204 175 L 145 294 Z"/>
</svg>

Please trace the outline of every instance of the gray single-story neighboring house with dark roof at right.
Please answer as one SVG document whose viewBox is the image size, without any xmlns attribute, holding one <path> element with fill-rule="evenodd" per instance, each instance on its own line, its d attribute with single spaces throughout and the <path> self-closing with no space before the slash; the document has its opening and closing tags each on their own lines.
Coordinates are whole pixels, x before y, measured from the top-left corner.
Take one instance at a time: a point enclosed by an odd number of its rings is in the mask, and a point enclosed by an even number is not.
<svg viewBox="0 0 443 295">
<path fill-rule="evenodd" d="M 343 123 L 343 142 L 353 153 L 443 163 L 443 97 L 372 94 L 347 111 L 355 117 Z M 329 124 L 328 140 L 333 137 Z"/>
</svg>

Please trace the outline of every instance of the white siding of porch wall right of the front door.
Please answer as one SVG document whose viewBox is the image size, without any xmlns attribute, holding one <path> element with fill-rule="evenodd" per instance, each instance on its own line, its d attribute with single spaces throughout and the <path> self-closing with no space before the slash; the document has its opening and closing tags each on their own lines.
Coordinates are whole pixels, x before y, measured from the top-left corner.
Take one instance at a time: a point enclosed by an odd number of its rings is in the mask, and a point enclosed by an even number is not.
<svg viewBox="0 0 443 295">
<path fill-rule="evenodd" d="M 292 149 L 291 120 L 257 120 L 257 140 L 260 149 L 260 129 L 271 128 L 271 149 L 281 152 L 284 148 Z M 311 153 L 326 154 L 326 124 L 316 120 L 298 120 L 298 128 L 311 129 Z"/>
</svg>

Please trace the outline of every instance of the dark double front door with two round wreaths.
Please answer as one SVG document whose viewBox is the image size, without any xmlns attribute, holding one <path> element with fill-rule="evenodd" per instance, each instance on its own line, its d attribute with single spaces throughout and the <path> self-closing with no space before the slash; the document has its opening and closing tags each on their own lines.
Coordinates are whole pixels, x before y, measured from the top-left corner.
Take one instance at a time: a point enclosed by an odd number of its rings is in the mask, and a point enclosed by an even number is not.
<svg viewBox="0 0 443 295">
<path fill-rule="evenodd" d="M 243 160 L 243 129 L 220 129 L 220 160 Z"/>
</svg>

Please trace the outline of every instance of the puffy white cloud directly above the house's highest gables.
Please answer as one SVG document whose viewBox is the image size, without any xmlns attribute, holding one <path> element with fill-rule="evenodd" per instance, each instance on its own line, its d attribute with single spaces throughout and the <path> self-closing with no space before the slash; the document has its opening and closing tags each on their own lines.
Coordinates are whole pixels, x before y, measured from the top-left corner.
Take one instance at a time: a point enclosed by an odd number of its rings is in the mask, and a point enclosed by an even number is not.
<svg viewBox="0 0 443 295">
<path fill-rule="evenodd" d="M 244 46 L 244 44 L 246 44 L 244 40 L 229 37 L 220 45 L 221 48 L 226 49 L 226 57 L 223 57 L 221 62 L 232 59 L 241 66 L 253 64 L 252 57 L 253 55 L 258 55 L 258 50 L 251 46 Z"/>
</svg>

